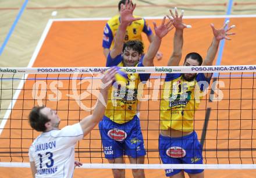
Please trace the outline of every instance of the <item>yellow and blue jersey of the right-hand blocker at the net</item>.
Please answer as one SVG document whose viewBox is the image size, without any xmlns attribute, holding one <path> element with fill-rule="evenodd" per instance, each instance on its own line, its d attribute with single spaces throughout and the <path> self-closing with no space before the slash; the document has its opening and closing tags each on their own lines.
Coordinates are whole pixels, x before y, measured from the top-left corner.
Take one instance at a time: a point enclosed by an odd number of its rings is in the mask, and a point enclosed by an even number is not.
<svg viewBox="0 0 256 178">
<path fill-rule="evenodd" d="M 195 99 L 195 94 L 205 87 L 199 86 L 198 82 L 205 81 L 208 86 L 210 80 L 203 73 L 198 73 L 192 81 L 184 80 L 182 74 L 166 74 L 161 91 L 160 129 L 194 130 L 194 113 L 202 98 Z"/>
</svg>

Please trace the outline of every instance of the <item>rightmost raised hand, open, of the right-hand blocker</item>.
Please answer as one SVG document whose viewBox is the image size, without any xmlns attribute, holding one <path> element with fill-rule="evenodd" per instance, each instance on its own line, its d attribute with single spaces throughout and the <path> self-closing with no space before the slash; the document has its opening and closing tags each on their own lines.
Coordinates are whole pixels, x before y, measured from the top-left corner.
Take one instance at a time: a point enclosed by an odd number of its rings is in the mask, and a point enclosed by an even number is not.
<svg viewBox="0 0 256 178">
<path fill-rule="evenodd" d="M 223 39 L 226 39 L 226 40 L 231 40 L 229 37 L 227 37 L 228 35 L 234 35 L 235 33 L 227 33 L 227 31 L 233 29 L 234 27 L 236 27 L 235 25 L 233 26 L 230 26 L 226 29 L 227 27 L 227 24 L 229 23 L 229 20 L 227 20 L 224 24 L 224 26 L 222 27 L 222 29 L 215 29 L 214 27 L 214 24 L 211 23 L 211 27 L 212 27 L 212 32 L 214 33 L 214 37 L 216 40 L 220 41 L 220 40 L 223 40 Z"/>
</svg>

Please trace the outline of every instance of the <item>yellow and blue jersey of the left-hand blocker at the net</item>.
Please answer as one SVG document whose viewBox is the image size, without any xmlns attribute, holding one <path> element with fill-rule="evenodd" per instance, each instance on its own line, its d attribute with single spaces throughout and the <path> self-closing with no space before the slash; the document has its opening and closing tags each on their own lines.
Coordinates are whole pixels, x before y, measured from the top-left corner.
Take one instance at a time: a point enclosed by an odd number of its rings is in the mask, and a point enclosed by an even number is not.
<svg viewBox="0 0 256 178">
<path fill-rule="evenodd" d="M 106 66 L 123 67 L 121 55 L 117 56 L 115 60 L 109 59 L 109 56 Z M 142 62 L 139 62 L 136 66 L 143 66 Z M 137 100 L 138 84 L 140 81 L 148 80 L 149 78 L 149 74 L 132 73 L 127 75 L 126 87 L 114 84 L 108 91 L 105 116 L 119 124 L 129 122 L 136 116 L 139 102 Z"/>
</svg>

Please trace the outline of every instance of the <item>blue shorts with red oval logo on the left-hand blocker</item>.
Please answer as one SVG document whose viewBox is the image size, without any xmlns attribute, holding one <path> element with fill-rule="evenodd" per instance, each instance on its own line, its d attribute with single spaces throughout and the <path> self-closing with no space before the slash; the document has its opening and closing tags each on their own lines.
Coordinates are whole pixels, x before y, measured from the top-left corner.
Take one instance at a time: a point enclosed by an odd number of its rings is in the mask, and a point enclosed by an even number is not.
<svg viewBox="0 0 256 178">
<path fill-rule="evenodd" d="M 99 122 L 102 146 L 106 159 L 120 158 L 123 155 L 137 158 L 146 154 L 140 119 L 134 116 L 124 124 L 118 124 L 104 116 Z"/>
</svg>

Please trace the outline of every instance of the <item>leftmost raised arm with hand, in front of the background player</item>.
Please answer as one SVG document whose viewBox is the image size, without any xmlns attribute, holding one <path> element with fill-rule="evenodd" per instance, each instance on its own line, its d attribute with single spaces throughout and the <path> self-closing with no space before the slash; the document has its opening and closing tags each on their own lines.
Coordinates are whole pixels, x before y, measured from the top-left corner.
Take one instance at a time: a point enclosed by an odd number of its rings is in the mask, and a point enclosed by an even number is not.
<svg viewBox="0 0 256 178">
<path fill-rule="evenodd" d="M 123 42 L 125 41 L 125 33 L 126 33 L 127 26 L 129 26 L 131 22 L 141 19 L 141 18 L 133 17 L 133 10 L 135 8 L 136 8 L 136 3 L 134 3 L 133 5 L 132 1 L 129 1 L 129 3 L 126 1 L 125 5 L 123 4 L 121 5 L 120 25 L 118 27 L 118 31 L 116 31 L 114 47 L 110 51 L 110 55 L 112 59 L 122 53 Z"/>
</svg>

